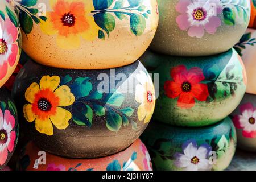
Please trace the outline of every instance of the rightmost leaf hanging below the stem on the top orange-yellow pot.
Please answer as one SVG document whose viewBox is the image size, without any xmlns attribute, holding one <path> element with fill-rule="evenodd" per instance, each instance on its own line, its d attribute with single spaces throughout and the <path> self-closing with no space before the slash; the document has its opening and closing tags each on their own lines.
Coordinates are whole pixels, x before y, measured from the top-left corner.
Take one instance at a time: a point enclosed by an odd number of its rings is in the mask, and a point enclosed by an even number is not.
<svg viewBox="0 0 256 182">
<path fill-rule="evenodd" d="M 130 26 L 131 26 L 131 31 L 135 35 L 137 35 L 137 36 L 142 35 L 146 28 L 146 20 L 145 20 L 144 16 L 141 14 L 131 14 Z"/>
</svg>

